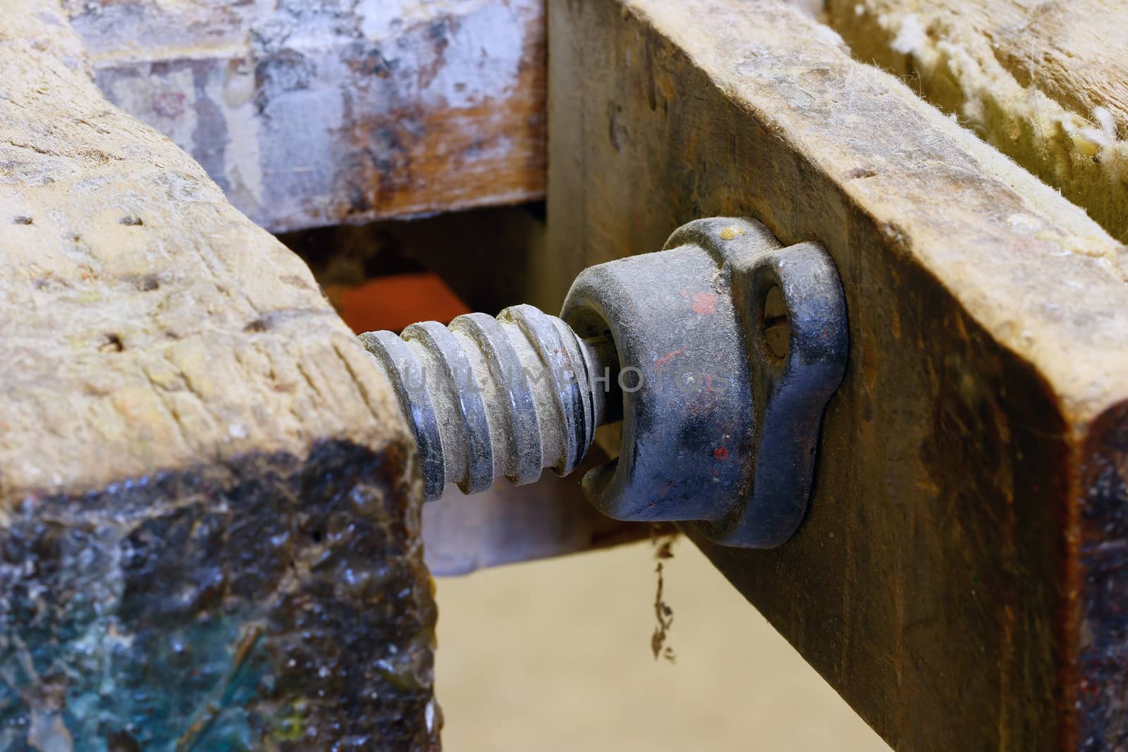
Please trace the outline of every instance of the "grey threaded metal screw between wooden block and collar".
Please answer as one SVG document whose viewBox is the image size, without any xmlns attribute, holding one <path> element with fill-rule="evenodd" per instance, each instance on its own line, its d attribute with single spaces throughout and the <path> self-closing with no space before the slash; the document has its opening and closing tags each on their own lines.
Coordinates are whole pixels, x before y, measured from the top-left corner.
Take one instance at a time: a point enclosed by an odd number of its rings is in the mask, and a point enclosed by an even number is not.
<svg viewBox="0 0 1128 752">
<path fill-rule="evenodd" d="M 587 343 L 532 306 L 360 339 L 415 434 L 429 499 L 448 483 L 476 494 L 502 476 L 520 485 L 544 468 L 571 472 L 608 412 L 614 346 Z"/>
</svg>

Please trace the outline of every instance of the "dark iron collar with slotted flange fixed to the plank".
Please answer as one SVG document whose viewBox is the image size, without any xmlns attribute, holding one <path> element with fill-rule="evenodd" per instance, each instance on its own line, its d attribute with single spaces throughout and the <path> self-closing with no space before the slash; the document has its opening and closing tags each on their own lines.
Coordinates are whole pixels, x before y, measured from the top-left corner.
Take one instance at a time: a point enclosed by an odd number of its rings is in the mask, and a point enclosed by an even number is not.
<svg viewBox="0 0 1128 752">
<path fill-rule="evenodd" d="M 581 337 L 609 330 L 624 375 L 619 457 L 583 479 L 598 508 L 694 521 L 726 546 L 794 533 L 847 356 L 845 298 L 820 246 L 698 220 L 658 254 L 580 274 L 562 318 Z"/>
</svg>

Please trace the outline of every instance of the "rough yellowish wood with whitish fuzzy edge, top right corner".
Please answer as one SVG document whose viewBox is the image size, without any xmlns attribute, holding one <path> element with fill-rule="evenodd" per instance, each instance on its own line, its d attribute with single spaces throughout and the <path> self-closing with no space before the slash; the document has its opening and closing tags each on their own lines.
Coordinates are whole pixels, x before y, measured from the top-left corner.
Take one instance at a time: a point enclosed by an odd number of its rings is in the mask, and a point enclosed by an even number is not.
<svg viewBox="0 0 1128 752">
<path fill-rule="evenodd" d="M 908 77 L 1128 241 L 1128 6 L 828 0 L 854 55 Z"/>
</svg>

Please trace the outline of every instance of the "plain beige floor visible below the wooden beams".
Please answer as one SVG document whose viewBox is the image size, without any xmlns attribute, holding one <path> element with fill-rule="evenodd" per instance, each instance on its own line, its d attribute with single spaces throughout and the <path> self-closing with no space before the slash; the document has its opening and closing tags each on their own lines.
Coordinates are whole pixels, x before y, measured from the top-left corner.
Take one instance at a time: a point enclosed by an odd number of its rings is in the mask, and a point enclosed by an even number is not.
<svg viewBox="0 0 1128 752">
<path fill-rule="evenodd" d="M 438 581 L 450 752 L 889 752 L 681 540 L 677 664 L 655 663 L 649 543 Z"/>
</svg>

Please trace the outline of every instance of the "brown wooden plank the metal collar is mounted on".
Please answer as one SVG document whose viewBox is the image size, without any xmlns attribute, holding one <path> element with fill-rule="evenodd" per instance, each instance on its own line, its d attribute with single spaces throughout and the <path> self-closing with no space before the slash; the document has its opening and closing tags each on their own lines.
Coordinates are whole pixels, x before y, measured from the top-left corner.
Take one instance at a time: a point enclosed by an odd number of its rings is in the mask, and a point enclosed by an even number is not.
<svg viewBox="0 0 1128 752">
<path fill-rule="evenodd" d="M 1126 249 L 794 9 L 556 0 L 549 28 L 537 302 L 708 215 L 841 274 L 808 520 L 702 547 L 899 750 L 1123 749 Z"/>
</svg>

